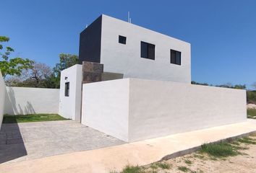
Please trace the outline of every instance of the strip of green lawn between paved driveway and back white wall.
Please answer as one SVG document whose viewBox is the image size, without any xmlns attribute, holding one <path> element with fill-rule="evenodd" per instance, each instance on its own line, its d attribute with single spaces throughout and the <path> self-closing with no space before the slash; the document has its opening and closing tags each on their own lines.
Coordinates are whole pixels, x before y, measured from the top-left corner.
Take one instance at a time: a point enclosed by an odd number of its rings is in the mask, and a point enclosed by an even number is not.
<svg viewBox="0 0 256 173">
<path fill-rule="evenodd" d="M 39 121 L 67 120 L 58 114 L 4 115 L 3 123 L 29 123 Z"/>
</svg>

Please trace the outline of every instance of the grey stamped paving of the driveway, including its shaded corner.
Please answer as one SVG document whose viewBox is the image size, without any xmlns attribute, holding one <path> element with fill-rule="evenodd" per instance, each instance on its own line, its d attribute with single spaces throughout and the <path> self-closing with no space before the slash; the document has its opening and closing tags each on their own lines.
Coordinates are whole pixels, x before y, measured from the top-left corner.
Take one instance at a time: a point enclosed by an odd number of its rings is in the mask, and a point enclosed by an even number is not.
<svg viewBox="0 0 256 173">
<path fill-rule="evenodd" d="M 124 143 L 72 120 L 2 124 L 0 164 Z"/>
</svg>

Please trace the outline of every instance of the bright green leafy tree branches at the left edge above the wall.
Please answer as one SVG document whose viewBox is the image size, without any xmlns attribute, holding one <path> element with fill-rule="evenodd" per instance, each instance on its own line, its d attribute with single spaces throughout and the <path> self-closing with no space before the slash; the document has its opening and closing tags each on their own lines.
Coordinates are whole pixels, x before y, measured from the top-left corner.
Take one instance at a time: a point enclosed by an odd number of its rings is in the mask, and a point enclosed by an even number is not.
<svg viewBox="0 0 256 173">
<path fill-rule="evenodd" d="M 9 42 L 9 37 L 0 36 L 0 56 L 3 58 L 0 61 L 0 70 L 4 79 L 7 75 L 17 75 L 20 76 L 23 69 L 32 68 L 33 61 L 30 61 L 28 58 L 9 58 L 10 54 L 14 52 L 14 49 L 4 45 L 2 43 Z"/>
</svg>

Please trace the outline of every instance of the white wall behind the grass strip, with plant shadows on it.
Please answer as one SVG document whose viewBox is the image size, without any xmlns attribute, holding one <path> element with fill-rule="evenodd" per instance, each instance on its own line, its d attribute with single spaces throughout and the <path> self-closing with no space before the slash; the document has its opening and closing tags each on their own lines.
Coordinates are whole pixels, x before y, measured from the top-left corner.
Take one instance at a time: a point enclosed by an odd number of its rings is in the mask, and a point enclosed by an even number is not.
<svg viewBox="0 0 256 173">
<path fill-rule="evenodd" d="M 9 87 L 5 95 L 4 114 L 26 115 L 59 112 L 59 89 Z"/>
</svg>

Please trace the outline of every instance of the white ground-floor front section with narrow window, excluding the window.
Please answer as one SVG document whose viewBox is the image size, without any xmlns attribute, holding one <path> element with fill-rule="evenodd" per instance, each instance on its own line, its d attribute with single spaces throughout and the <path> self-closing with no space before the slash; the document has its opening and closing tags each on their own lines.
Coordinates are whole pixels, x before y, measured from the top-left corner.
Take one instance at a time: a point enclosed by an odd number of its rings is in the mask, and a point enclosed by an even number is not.
<svg viewBox="0 0 256 173">
<path fill-rule="evenodd" d="M 67 79 L 65 79 L 65 77 Z M 65 97 L 65 83 L 69 82 L 69 97 Z M 61 71 L 59 115 L 80 122 L 82 97 L 82 65 Z"/>
</svg>

